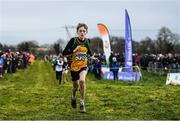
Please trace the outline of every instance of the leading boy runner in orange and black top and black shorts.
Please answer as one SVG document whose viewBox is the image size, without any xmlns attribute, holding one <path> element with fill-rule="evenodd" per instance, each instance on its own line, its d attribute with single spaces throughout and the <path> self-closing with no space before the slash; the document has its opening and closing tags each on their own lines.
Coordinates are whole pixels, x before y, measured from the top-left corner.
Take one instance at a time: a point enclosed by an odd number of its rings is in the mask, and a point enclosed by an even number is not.
<svg viewBox="0 0 180 121">
<path fill-rule="evenodd" d="M 80 112 L 86 112 L 85 109 L 85 80 L 87 75 L 88 55 L 92 56 L 89 48 L 90 39 L 86 38 L 88 26 L 84 23 L 79 23 L 77 26 L 78 37 L 73 37 L 66 45 L 63 55 L 71 55 L 71 77 L 73 82 L 71 105 L 76 108 L 76 91 L 80 87 Z M 91 57 L 95 59 L 94 56 Z"/>
</svg>

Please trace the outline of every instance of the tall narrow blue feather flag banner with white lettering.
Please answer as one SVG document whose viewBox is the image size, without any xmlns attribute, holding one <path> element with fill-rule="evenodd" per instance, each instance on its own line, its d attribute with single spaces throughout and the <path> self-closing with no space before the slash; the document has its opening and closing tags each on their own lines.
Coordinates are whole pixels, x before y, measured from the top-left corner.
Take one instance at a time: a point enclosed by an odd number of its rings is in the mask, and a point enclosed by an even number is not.
<svg viewBox="0 0 180 121">
<path fill-rule="evenodd" d="M 127 10 L 125 10 L 125 72 L 133 72 L 132 33 Z"/>
</svg>

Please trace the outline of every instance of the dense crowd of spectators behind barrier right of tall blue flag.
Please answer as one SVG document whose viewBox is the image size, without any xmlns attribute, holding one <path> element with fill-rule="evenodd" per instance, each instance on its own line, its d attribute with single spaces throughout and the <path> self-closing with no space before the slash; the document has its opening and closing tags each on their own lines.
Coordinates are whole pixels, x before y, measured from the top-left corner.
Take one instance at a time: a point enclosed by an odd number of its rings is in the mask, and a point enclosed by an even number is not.
<svg viewBox="0 0 180 121">
<path fill-rule="evenodd" d="M 180 54 L 145 54 L 135 55 L 134 63 L 139 65 L 142 69 L 165 73 L 180 72 Z"/>
</svg>

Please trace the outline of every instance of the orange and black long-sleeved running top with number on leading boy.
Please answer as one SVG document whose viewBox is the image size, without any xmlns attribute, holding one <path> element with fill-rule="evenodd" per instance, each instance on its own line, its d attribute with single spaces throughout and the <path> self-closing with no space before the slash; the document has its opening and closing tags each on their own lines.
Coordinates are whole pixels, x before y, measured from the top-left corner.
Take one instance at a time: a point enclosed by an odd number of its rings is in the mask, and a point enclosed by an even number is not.
<svg viewBox="0 0 180 121">
<path fill-rule="evenodd" d="M 63 55 L 71 55 L 71 71 L 79 71 L 83 67 L 87 67 L 87 56 L 92 56 L 89 49 L 89 39 L 80 40 L 78 37 L 72 38 L 63 51 Z M 80 48 L 73 52 L 73 50 L 80 45 Z"/>
</svg>

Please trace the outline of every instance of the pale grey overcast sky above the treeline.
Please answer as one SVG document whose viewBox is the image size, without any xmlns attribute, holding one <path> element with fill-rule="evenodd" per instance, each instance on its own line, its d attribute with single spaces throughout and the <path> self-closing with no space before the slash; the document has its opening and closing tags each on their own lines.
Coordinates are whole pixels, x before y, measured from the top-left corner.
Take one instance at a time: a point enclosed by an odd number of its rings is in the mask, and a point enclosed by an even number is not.
<svg viewBox="0 0 180 121">
<path fill-rule="evenodd" d="M 67 41 L 64 26 L 79 22 L 87 23 L 90 38 L 99 36 L 97 23 L 105 24 L 110 35 L 124 37 L 125 9 L 136 41 L 156 38 L 162 26 L 180 34 L 180 0 L 0 0 L 0 42 Z M 75 29 L 69 31 L 75 35 Z"/>
</svg>

